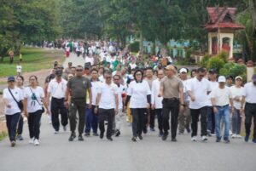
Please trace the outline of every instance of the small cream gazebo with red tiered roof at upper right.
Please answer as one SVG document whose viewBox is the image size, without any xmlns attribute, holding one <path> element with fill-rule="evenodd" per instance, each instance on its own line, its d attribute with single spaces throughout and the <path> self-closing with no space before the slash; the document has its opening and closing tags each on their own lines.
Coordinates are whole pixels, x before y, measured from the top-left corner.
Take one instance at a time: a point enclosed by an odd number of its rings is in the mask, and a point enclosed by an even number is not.
<svg viewBox="0 0 256 171">
<path fill-rule="evenodd" d="M 208 53 L 214 55 L 224 50 L 232 60 L 234 32 L 245 29 L 235 22 L 236 8 L 207 8 L 207 12 L 210 20 L 204 27 L 208 31 Z"/>
</svg>

